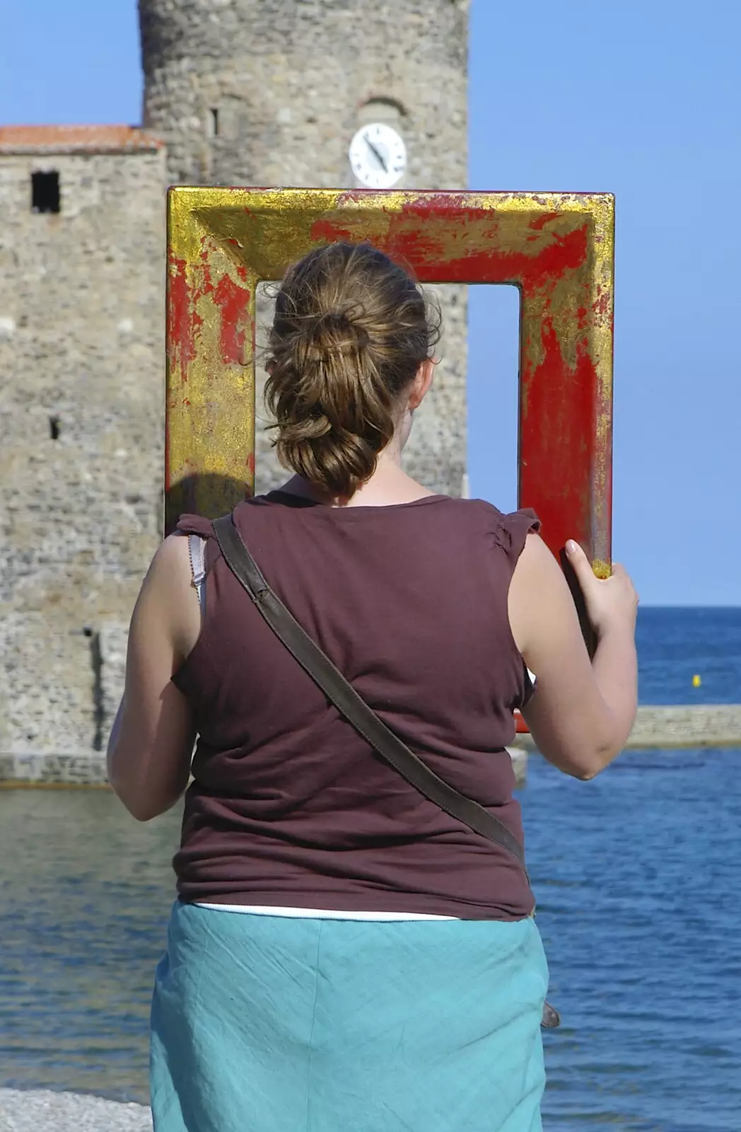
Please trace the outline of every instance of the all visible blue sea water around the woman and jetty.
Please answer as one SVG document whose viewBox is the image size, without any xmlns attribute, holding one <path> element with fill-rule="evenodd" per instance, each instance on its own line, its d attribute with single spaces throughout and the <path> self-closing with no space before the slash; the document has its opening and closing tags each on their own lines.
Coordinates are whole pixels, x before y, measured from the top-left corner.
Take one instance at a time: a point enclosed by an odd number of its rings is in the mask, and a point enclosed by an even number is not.
<svg viewBox="0 0 741 1132">
<path fill-rule="evenodd" d="M 638 644 L 643 703 L 741 703 L 741 609 L 641 609 Z M 544 1129 L 741 1132 L 741 749 L 591 782 L 533 756 L 519 797 L 562 1017 Z M 0 1086 L 146 1101 L 176 839 L 107 791 L 0 791 Z"/>
</svg>

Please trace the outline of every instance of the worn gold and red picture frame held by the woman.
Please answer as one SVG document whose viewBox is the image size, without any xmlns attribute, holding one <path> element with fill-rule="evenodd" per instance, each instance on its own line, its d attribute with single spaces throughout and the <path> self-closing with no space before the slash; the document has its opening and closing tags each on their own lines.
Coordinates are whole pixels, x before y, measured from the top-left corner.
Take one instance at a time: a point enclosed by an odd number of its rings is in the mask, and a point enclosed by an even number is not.
<svg viewBox="0 0 741 1132">
<path fill-rule="evenodd" d="M 519 503 L 558 554 L 611 557 L 610 194 L 173 188 L 165 526 L 216 516 L 255 473 L 255 293 L 312 248 L 370 240 L 421 283 L 519 288 Z"/>
</svg>

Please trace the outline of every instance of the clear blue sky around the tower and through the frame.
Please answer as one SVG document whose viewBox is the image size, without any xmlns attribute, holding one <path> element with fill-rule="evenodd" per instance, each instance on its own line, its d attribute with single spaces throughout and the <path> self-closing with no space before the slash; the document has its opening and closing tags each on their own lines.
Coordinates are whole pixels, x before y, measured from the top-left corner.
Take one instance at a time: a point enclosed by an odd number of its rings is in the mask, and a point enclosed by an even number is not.
<svg viewBox="0 0 741 1132">
<path fill-rule="evenodd" d="M 0 122 L 139 121 L 135 0 L 1 7 Z M 473 0 L 471 32 L 471 187 L 617 195 L 615 558 L 646 604 L 741 604 L 741 6 Z M 516 299 L 471 307 L 471 486 L 500 507 Z"/>
</svg>

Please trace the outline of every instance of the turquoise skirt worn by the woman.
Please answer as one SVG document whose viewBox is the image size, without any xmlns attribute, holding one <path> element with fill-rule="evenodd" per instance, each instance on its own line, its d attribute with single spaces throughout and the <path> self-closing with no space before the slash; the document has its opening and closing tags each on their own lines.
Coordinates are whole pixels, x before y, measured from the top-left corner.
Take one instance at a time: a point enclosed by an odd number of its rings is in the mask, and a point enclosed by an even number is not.
<svg viewBox="0 0 741 1132">
<path fill-rule="evenodd" d="M 540 1132 L 533 919 L 295 919 L 176 903 L 155 1132 Z"/>
</svg>

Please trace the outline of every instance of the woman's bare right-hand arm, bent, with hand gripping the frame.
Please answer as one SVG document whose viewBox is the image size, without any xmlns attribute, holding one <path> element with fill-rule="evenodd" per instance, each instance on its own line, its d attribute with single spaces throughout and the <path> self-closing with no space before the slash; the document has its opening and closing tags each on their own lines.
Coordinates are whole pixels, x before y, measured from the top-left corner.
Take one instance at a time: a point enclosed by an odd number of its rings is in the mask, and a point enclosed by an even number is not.
<svg viewBox="0 0 741 1132">
<path fill-rule="evenodd" d="M 576 543 L 569 558 L 581 585 L 597 649 L 589 661 L 571 593 L 545 543 L 527 537 L 509 591 L 512 634 L 535 693 L 523 714 L 546 758 L 589 779 L 622 749 L 636 717 L 638 598 L 620 566 L 596 578 Z"/>
</svg>

